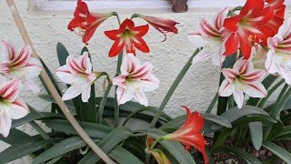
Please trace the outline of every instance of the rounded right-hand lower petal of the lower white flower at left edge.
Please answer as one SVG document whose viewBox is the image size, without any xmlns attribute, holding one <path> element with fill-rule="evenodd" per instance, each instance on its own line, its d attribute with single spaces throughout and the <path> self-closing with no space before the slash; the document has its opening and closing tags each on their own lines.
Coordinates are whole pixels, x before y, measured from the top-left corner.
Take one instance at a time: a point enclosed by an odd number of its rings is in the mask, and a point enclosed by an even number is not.
<svg viewBox="0 0 291 164">
<path fill-rule="evenodd" d="M 24 101 L 16 99 L 13 103 L 7 106 L 6 112 L 9 112 L 11 118 L 19 119 L 24 118 L 28 114 L 29 109 Z"/>
</svg>

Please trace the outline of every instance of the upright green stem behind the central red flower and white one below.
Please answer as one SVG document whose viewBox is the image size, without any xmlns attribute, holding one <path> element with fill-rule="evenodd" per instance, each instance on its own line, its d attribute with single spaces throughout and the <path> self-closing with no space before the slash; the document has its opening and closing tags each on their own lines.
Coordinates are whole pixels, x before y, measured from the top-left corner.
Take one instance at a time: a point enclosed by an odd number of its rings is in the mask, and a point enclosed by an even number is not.
<svg viewBox="0 0 291 164">
<path fill-rule="evenodd" d="M 120 21 L 119 15 L 116 14 L 116 18 L 117 18 L 117 21 L 118 21 L 118 25 L 121 26 L 121 21 Z M 123 58 L 123 51 L 118 55 L 115 77 L 117 77 L 120 74 L 120 67 L 121 67 L 121 64 L 122 64 L 122 58 Z M 118 124 L 119 124 L 119 106 L 117 104 L 116 89 L 117 89 L 117 87 L 115 87 L 115 118 L 114 118 L 114 124 L 115 124 L 115 127 L 118 127 Z"/>
</svg>

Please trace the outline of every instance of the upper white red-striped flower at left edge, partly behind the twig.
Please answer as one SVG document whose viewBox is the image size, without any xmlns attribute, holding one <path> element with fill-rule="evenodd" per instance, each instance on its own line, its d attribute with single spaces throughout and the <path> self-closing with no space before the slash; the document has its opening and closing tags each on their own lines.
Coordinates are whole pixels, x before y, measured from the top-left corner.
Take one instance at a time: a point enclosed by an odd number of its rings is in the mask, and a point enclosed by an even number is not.
<svg viewBox="0 0 291 164">
<path fill-rule="evenodd" d="M 0 74 L 8 79 L 20 79 L 22 86 L 29 88 L 35 93 L 39 87 L 33 79 L 38 77 L 43 69 L 42 64 L 31 56 L 30 46 L 24 46 L 19 52 L 15 47 L 3 40 L 4 48 L 0 54 Z"/>
</svg>

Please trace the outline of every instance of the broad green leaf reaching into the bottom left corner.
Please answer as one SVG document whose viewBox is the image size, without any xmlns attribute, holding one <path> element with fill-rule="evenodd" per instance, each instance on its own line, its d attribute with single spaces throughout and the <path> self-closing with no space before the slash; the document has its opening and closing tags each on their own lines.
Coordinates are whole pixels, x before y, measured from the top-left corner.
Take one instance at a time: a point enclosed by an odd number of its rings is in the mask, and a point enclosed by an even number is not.
<svg viewBox="0 0 291 164">
<path fill-rule="evenodd" d="M 33 141 L 32 138 L 19 141 L 15 145 L 5 149 L 0 154 L 0 163 L 6 163 L 15 159 L 32 154 L 37 150 L 44 149 L 45 146 L 53 141 L 52 139 Z"/>
</svg>

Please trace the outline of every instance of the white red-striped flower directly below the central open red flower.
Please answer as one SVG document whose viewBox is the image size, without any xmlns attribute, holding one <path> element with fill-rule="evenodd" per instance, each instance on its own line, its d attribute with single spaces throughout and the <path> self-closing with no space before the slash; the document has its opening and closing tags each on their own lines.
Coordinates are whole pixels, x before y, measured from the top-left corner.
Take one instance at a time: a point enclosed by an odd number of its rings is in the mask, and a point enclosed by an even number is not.
<svg viewBox="0 0 291 164">
<path fill-rule="evenodd" d="M 160 81 L 152 74 L 153 65 L 146 62 L 140 65 L 137 57 L 133 54 L 125 55 L 120 67 L 121 75 L 115 77 L 112 82 L 117 87 L 117 103 L 135 98 L 140 104 L 148 106 L 145 92 L 153 91 L 159 87 Z"/>
</svg>

